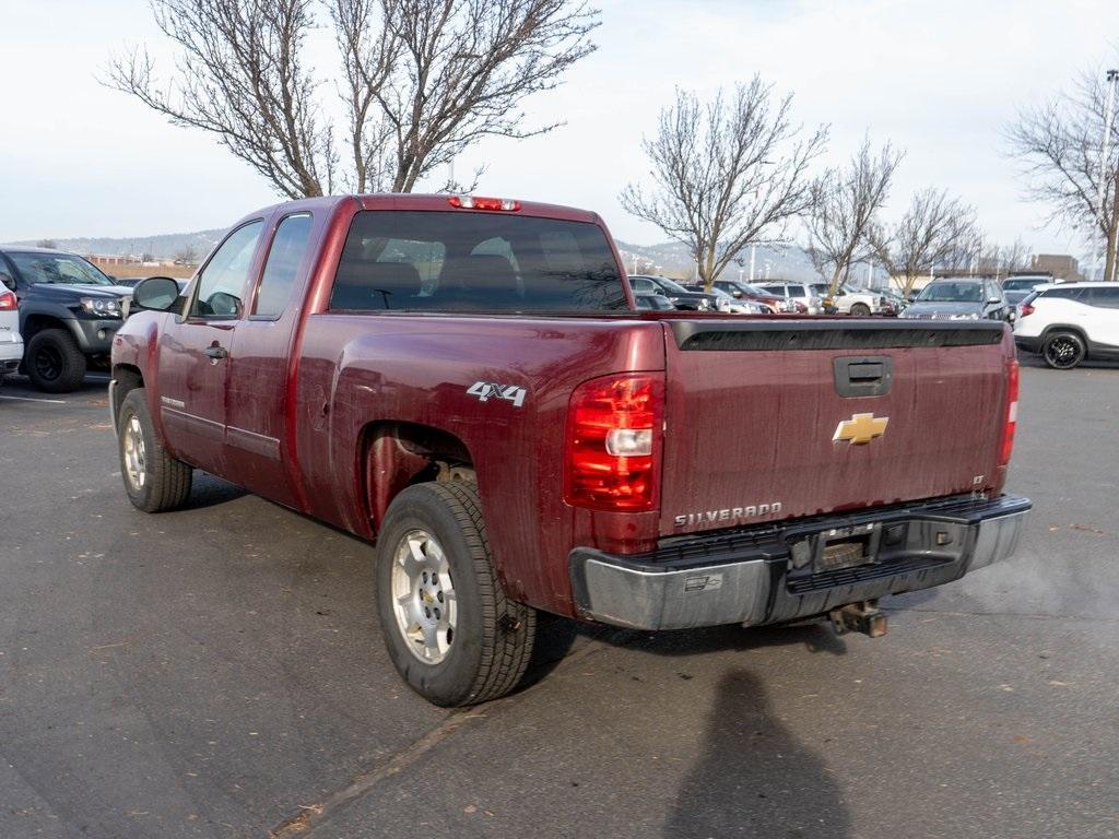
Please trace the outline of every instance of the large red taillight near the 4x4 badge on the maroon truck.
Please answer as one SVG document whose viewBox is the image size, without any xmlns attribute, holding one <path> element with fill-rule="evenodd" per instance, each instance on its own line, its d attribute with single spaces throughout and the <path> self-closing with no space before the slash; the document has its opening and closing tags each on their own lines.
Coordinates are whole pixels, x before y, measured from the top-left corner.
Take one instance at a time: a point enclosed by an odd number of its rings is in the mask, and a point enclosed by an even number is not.
<svg viewBox="0 0 1119 839">
<path fill-rule="evenodd" d="M 620 512 L 657 509 L 664 415 L 661 374 L 609 376 L 575 388 L 567 411 L 567 503 Z"/>
</svg>

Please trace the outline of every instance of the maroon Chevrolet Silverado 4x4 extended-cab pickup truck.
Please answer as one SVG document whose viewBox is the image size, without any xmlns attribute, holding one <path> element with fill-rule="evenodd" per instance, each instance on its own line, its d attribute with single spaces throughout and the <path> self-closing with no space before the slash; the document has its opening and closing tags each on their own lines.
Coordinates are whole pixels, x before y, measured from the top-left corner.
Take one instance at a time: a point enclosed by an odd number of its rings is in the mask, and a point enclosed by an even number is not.
<svg viewBox="0 0 1119 839">
<path fill-rule="evenodd" d="M 1005 324 L 638 311 L 601 219 L 470 196 L 246 216 L 113 339 L 124 489 L 220 475 L 374 544 L 389 656 L 499 697 L 538 618 L 820 619 L 1006 558 Z"/>
</svg>

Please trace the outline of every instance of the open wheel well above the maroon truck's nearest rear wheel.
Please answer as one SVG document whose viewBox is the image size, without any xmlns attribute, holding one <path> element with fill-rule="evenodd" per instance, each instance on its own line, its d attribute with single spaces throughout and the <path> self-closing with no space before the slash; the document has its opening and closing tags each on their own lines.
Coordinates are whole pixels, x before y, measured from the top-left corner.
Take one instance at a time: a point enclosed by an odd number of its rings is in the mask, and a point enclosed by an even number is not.
<svg viewBox="0 0 1119 839">
<path fill-rule="evenodd" d="M 379 422 L 361 430 L 361 497 L 374 529 L 401 490 L 423 481 L 474 480 L 473 458 L 454 434 L 419 423 Z"/>
</svg>

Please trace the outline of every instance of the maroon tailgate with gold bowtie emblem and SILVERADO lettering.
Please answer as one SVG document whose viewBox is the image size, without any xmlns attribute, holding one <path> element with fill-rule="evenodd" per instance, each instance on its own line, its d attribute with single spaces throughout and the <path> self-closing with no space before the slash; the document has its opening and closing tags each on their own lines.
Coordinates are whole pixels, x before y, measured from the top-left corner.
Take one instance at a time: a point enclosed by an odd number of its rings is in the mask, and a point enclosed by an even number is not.
<svg viewBox="0 0 1119 839">
<path fill-rule="evenodd" d="M 665 326 L 665 536 L 1000 486 L 1002 323 Z"/>
</svg>

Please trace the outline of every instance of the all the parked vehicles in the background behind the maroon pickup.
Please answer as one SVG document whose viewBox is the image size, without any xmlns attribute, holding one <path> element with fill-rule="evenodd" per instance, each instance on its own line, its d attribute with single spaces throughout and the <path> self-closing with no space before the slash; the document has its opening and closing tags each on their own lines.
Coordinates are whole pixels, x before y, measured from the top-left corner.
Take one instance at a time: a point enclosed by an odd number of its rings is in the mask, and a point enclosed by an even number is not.
<svg viewBox="0 0 1119 839">
<path fill-rule="evenodd" d="M 731 314 L 899 315 L 919 320 L 1005 320 L 1019 348 L 1052 367 L 1119 356 L 1119 286 L 1019 275 L 1002 284 L 950 277 L 912 299 L 893 290 L 831 294 L 827 283 L 716 280 L 711 292 L 664 276 L 629 277 L 638 309 Z M 17 369 L 47 393 L 79 386 L 104 367 L 135 280 L 116 280 L 77 254 L 37 247 L 0 251 L 0 378 Z M 180 289 L 186 281 L 176 281 Z M 1024 319 L 1029 317 L 1028 322 Z"/>
</svg>

